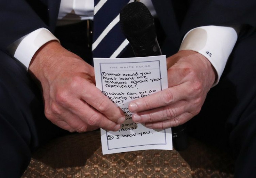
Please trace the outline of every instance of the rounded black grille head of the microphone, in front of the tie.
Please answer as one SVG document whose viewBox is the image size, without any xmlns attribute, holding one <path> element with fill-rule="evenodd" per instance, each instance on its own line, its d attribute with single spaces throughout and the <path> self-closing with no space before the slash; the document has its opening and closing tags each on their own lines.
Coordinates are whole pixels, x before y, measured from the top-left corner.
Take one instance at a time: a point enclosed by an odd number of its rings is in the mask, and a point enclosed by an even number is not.
<svg viewBox="0 0 256 178">
<path fill-rule="evenodd" d="M 131 2 L 120 11 L 120 26 L 132 46 L 144 46 L 155 40 L 154 18 L 142 2 Z"/>
</svg>

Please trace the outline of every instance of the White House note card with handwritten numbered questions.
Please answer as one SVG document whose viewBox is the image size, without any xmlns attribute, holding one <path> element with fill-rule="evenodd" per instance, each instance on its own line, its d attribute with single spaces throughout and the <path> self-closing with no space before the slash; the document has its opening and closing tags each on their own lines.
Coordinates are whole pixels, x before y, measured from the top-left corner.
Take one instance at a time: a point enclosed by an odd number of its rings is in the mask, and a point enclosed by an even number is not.
<svg viewBox="0 0 256 178">
<path fill-rule="evenodd" d="M 94 58 L 96 86 L 119 106 L 126 119 L 118 131 L 101 129 L 103 154 L 144 149 L 172 150 L 171 129 L 149 129 L 133 122 L 128 105 L 167 88 L 166 56 Z"/>
</svg>

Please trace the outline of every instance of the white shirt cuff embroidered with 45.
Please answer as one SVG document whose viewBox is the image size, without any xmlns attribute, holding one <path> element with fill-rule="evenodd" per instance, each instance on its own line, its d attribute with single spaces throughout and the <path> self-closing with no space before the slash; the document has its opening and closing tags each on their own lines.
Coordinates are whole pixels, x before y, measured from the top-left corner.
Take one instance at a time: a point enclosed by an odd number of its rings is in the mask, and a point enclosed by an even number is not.
<svg viewBox="0 0 256 178">
<path fill-rule="evenodd" d="M 237 37 L 237 32 L 232 27 L 201 26 L 186 33 L 179 51 L 193 50 L 205 56 L 217 72 L 215 86 L 224 71 Z"/>
</svg>

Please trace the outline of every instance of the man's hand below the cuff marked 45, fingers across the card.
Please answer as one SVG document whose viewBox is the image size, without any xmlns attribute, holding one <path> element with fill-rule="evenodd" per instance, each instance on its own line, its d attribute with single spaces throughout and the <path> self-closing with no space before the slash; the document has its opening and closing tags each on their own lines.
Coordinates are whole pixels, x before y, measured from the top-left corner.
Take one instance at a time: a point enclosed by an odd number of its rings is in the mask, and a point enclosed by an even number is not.
<svg viewBox="0 0 256 178">
<path fill-rule="evenodd" d="M 163 129 L 181 125 L 200 112 L 216 78 L 209 60 L 183 50 L 167 58 L 167 68 L 168 89 L 130 103 L 134 122 Z"/>
</svg>

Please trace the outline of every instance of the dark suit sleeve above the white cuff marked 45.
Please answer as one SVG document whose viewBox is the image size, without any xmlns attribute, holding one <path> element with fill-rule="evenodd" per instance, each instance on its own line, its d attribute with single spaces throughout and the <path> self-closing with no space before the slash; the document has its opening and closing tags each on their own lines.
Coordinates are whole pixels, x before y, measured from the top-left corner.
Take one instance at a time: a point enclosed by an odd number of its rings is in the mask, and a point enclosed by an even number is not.
<svg viewBox="0 0 256 178">
<path fill-rule="evenodd" d="M 182 24 L 182 33 L 206 25 L 256 26 L 255 0 L 191 0 Z"/>
</svg>

